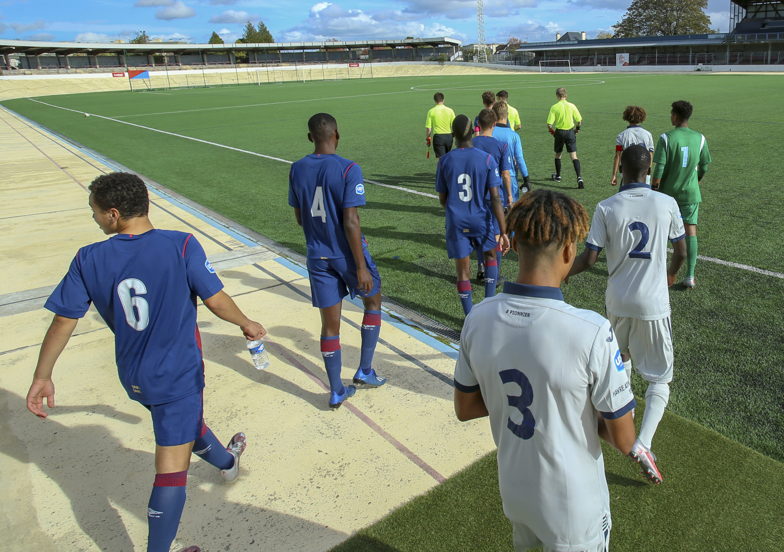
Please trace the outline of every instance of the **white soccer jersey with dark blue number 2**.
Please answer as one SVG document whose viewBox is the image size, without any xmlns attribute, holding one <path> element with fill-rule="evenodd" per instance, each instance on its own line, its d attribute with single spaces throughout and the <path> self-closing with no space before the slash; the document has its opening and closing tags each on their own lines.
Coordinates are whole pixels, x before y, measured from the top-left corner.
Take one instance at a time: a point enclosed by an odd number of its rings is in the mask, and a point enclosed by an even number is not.
<svg viewBox="0 0 784 552">
<path fill-rule="evenodd" d="M 685 237 L 677 202 L 646 184 L 624 184 L 600 202 L 586 247 L 607 249 L 607 311 L 641 320 L 670 316 L 667 238 Z"/>
</svg>

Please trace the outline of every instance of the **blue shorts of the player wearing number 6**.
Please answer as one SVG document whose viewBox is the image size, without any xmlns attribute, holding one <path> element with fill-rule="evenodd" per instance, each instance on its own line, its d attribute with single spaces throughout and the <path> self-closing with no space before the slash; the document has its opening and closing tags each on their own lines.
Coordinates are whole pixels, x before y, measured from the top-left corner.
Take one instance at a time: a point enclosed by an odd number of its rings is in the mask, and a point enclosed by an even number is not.
<svg viewBox="0 0 784 552">
<path fill-rule="evenodd" d="M 185 445 L 201 437 L 204 426 L 202 391 L 179 401 L 162 405 L 144 405 L 152 415 L 155 444 L 162 447 Z"/>
</svg>

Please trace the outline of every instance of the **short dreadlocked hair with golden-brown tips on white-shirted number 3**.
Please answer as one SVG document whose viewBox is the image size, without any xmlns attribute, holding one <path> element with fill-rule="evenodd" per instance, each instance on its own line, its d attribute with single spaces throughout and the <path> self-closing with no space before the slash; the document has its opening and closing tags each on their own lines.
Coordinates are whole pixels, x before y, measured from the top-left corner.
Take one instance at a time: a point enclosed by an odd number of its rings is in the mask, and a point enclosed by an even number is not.
<svg viewBox="0 0 784 552">
<path fill-rule="evenodd" d="M 557 191 L 539 188 L 521 195 L 506 216 L 517 245 L 533 251 L 583 241 L 590 223 L 585 207 Z"/>
</svg>

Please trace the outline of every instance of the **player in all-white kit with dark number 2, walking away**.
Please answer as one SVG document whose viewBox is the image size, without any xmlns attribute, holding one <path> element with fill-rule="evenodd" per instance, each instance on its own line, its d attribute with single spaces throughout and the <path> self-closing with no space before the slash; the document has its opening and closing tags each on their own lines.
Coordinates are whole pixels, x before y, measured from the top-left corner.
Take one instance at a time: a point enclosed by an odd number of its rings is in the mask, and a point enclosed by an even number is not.
<svg viewBox="0 0 784 552">
<path fill-rule="evenodd" d="M 667 287 L 673 285 L 686 259 L 686 235 L 675 200 L 657 194 L 645 183 L 650 152 L 641 145 L 627 147 L 621 166 L 624 180 L 630 183 L 597 205 L 586 249 L 569 275 L 593 267 L 601 250 L 607 249 L 607 317 L 626 373 L 631 379 L 633 358 L 637 373 L 648 382 L 640 437 L 629 456 L 658 484 L 662 474 L 656 467 L 651 441 L 670 401 L 673 380 L 673 326 Z M 669 270 L 667 238 L 673 244 Z"/>
</svg>

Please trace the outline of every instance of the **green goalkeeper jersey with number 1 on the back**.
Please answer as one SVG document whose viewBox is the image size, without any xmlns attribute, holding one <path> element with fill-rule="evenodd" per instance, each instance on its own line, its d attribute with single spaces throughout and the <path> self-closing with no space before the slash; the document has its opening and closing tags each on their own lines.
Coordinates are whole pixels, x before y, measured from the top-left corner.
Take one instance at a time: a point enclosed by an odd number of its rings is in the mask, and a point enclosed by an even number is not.
<svg viewBox="0 0 784 552">
<path fill-rule="evenodd" d="M 688 127 L 676 127 L 659 138 L 653 162 L 656 164 L 653 176 L 662 179 L 659 183 L 662 194 L 675 198 L 678 205 L 702 202 L 699 179 L 710 163 L 705 136 Z"/>
</svg>

